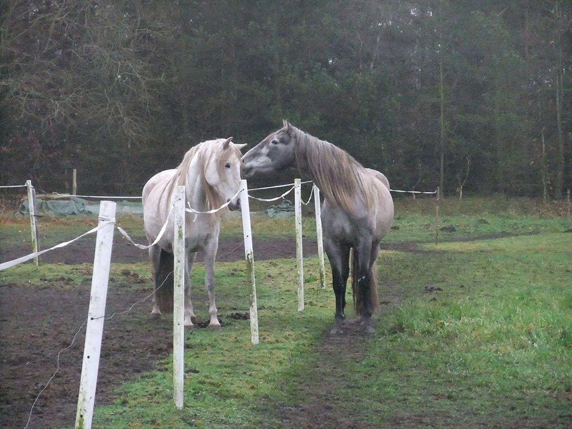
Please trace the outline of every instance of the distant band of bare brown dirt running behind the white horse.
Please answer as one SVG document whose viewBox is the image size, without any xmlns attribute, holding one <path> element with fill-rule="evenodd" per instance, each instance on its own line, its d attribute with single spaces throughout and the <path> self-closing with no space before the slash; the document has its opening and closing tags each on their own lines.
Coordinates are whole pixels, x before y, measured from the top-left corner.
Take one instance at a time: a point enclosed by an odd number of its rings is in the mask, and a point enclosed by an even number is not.
<svg viewBox="0 0 572 429">
<path fill-rule="evenodd" d="M 147 243 L 145 237 L 135 237 L 136 243 Z M 244 260 L 244 245 L 241 239 L 221 239 L 219 240 L 219 252 L 217 261 L 232 262 Z M 74 243 L 47 252 L 40 256 L 45 263 L 63 263 L 68 265 L 93 263 L 93 249 L 95 249 L 95 237 L 88 236 L 75 241 Z M 315 255 L 318 251 L 316 239 L 303 239 L 302 248 L 304 257 Z M 296 240 L 292 239 L 253 239 L 254 257 L 256 260 L 267 260 L 277 258 L 296 257 Z M 15 247 L 0 251 L 0 260 L 11 261 L 18 257 L 27 255 L 31 250 L 29 247 Z M 127 240 L 115 237 L 112 249 L 112 262 L 137 263 L 149 261 L 148 251 L 143 251 L 130 244 Z M 204 261 L 202 252 L 197 254 L 197 262 Z"/>
</svg>

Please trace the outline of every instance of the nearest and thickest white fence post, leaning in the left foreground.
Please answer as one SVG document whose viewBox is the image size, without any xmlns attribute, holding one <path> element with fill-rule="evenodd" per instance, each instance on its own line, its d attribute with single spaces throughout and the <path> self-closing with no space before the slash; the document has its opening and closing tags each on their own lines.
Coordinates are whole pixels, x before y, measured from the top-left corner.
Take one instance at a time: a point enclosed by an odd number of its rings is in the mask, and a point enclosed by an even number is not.
<svg viewBox="0 0 572 429">
<path fill-rule="evenodd" d="M 102 201 L 99 224 L 114 219 L 115 211 L 115 202 Z M 80 394 L 77 399 L 76 429 L 92 427 L 114 229 L 115 224 L 109 223 L 97 231 L 92 292 L 89 298 L 88 325 L 85 330 L 84 363 L 81 367 Z"/>
</svg>

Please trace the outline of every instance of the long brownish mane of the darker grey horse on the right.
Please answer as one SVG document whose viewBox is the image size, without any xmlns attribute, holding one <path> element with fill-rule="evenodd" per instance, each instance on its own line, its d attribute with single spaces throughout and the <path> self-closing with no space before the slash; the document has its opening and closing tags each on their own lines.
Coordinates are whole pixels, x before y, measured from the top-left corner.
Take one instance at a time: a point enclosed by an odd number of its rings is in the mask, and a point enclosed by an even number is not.
<svg viewBox="0 0 572 429">
<path fill-rule="evenodd" d="M 289 125 L 296 138 L 296 161 L 305 166 L 312 181 L 329 201 L 353 215 L 358 194 L 366 206 L 375 203 L 373 177 L 345 150 Z"/>
</svg>

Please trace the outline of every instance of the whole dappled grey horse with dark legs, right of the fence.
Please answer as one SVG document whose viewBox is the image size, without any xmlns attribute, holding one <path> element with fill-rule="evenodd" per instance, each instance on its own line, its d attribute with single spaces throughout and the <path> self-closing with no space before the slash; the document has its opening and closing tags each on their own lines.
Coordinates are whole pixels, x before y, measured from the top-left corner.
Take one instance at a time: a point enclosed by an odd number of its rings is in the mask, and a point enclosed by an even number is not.
<svg viewBox="0 0 572 429">
<path fill-rule="evenodd" d="M 316 184 L 325 198 L 321 212 L 324 248 L 336 296 L 331 333 L 343 333 L 350 249 L 355 309 L 364 331 L 372 333 L 371 316 L 379 307 L 374 263 L 379 242 L 390 230 L 394 216 L 389 182 L 337 146 L 287 121 L 283 125 L 243 156 L 244 174 L 252 177 L 295 167 Z"/>
</svg>

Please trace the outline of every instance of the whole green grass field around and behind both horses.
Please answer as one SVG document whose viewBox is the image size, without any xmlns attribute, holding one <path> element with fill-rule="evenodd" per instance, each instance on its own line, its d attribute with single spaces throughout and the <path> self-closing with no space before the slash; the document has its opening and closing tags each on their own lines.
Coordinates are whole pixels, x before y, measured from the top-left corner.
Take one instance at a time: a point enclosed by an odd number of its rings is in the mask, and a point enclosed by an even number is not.
<svg viewBox="0 0 572 429">
<path fill-rule="evenodd" d="M 318 288 L 316 257 L 304 260 L 302 313 L 295 260 L 259 261 L 260 344 L 250 344 L 248 320 L 186 332 L 184 410 L 172 404 L 169 356 L 164 370 L 124 380 L 113 404 L 96 407 L 94 427 L 570 427 L 572 234 L 562 209 L 445 200 L 442 225 L 455 231 L 440 232 L 435 245 L 431 202 L 396 203 L 399 229 L 386 240 L 396 246 L 377 262 L 383 305 L 375 335 L 329 337 L 333 293 Z M 41 231 L 46 240 L 67 239 L 83 222 L 46 222 Z M 140 220 L 122 222 L 140 228 Z M 224 234 L 239 235 L 236 223 Z M 29 235 L 11 217 L 1 227 L 3 243 L 25 240 L 20 229 Z M 289 231 L 290 219 L 253 220 L 255 235 Z M 221 313 L 247 311 L 244 268 L 217 264 Z M 146 264 L 114 264 L 112 277 L 124 269 L 148 276 Z M 35 287 L 46 273 L 65 271 L 26 264 L 2 272 L 0 284 Z M 194 277 L 203 273 L 198 265 Z"/>
</svg>

